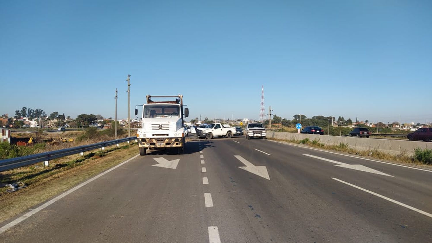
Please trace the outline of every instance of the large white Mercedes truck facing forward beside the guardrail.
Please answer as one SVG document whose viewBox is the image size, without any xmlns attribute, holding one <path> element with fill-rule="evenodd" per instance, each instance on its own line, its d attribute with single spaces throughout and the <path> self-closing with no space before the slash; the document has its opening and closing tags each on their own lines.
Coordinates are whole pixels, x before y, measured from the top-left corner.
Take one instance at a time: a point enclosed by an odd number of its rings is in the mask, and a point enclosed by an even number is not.
<svg viewBox="0 0 432 243">
<path fill-rule="evenodd" d="M 183 108 L 183 96 L 150 96 L 142 106 L 141 128 L 137 131 L 140 155 L 145 155 L 147 149 L 176 149 L 184 152 L 184 118 L 189 116 L 189 109 Z M 175 98 L 170 101 L 154 101 L 160 98 Z M 184 111 L 183 111 L 184 109 Z"/>
</svg>

